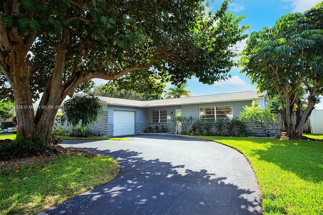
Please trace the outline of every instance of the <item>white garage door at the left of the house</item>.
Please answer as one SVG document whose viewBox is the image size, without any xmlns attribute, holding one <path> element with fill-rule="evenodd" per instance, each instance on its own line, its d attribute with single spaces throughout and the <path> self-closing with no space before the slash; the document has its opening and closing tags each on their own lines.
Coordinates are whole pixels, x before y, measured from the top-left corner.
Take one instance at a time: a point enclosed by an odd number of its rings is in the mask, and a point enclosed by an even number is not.
<svg viewBox="0 0 323 215">
<path fill-rule="evenodd" d="M 113 135 L 121 136 L 135 133 L 135 112 L 113 112 Z"/>
</svg>

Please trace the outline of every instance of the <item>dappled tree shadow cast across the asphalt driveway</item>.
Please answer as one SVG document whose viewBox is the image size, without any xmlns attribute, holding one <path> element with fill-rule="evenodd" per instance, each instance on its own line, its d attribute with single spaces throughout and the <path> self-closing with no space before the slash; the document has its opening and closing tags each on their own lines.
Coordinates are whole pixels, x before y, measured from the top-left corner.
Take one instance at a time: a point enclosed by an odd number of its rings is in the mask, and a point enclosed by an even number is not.
<svg viewBox="0 0 323 215">
<path fill-rule="evenodd" d="M 41 214 L 261 214 L 254 191 L 225 184 L 206 170 L 185 170 L 131 150 L 83 148 L 116 158 L 121 172 L 96 187 Z"/>
</svg>

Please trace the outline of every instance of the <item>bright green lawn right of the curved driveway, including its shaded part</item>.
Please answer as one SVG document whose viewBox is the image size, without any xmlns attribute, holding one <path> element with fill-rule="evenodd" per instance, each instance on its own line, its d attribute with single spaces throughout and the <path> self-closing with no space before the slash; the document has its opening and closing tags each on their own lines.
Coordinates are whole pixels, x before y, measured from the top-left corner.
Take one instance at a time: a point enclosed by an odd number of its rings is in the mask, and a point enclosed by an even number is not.
<svg viewBox="0 0 323 215">
<path fill-rule="evenodd" d="M 242 152 L 262 193 L 263 214 L 323 214 L 323 142 L 202 137 Z"/>
</svg>

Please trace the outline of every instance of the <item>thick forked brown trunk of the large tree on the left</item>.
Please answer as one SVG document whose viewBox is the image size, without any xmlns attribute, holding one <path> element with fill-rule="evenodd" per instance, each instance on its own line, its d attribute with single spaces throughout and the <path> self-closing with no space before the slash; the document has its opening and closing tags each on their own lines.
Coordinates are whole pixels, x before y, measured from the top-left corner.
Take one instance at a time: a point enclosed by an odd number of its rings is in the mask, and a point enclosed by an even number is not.
<svg viewBox="0 0 323 215">
<path fill-rule="evenodd" d="M 24 136 L 25 138 L 39 137 L 44 139 L 47 143 L 50 143 L 50 137 L 52 132 L 52 126 L 55 121 L 55 117 L 59 106 L 63 99 L 60 96 L 59 89 L 55 93 L 48 95 L 44 93 L 43 100 L 37 109 L 37 115 L 34 116 L 34 108 L 30 93 L 29 75 L 27 71 L 27 65 L 25 63 L 25 53 L 12 52 L 10 55 L 10 61 L 12 67 L 10 71 L 10 77 L 12 80 L 12 87 L 15 93 L 16 102 L 16 117 L 18 136 Z"/>
</svg>

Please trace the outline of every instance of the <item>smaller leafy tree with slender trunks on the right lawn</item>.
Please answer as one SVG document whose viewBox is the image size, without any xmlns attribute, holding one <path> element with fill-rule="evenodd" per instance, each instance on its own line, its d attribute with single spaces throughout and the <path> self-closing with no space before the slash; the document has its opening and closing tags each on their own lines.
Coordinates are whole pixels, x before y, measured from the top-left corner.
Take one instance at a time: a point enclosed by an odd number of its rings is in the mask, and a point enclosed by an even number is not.
<svg viewBox="0 0 323 215">
<path fill-rule="evenodd" d="M 318 95 L 323 92 L 322 19 L 323 3 L 304 14 L 286 14 L 274 27 L 253 32 L 243 52 L 242 72 L 260 91 L 278 96 L 290 137 L 301 136 L 306 120 L 319 102 Z M 302 110 L 305 101 L 307 107 Z"/>
</svg>

